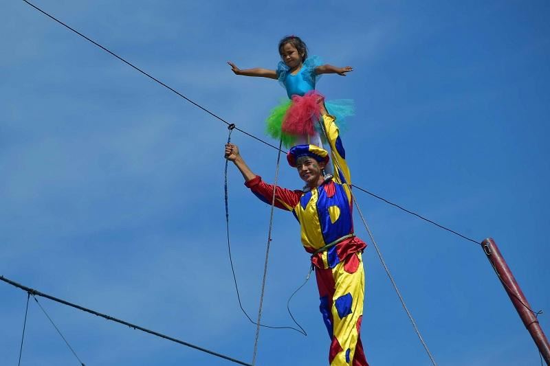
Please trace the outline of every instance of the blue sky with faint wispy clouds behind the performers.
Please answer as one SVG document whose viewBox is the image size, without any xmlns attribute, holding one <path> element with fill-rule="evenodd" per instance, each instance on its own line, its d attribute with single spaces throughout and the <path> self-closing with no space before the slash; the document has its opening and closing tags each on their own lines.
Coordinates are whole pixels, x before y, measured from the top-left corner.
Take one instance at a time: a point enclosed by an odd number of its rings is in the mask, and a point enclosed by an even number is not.
<svg viewBox="0 0 550 366">
<path fill-rule="evenodd" d="M 353 98 L 343 136 L 353 181 L 476 240 L 495 238 L 535 310 L 550 312 L 550 15 L 545 1 L 51 1 L 52 12 L 254 135 L 285 91 L 237 77 L 275 67 L 298 34 L 310 53 L 352 65 L 325 76 Z M 208 349 L 251 361 L 223 211 L 227 129 L 23 3 L 0 5 L 0 274 Z M 276 151 L 235 132 L 250 166 Z M 274 142 L 274 141 L 272 141 Z M 234 264 L 259 304 L 269 207 L 231 167 Z M 299 187 L 283 166 L 281 184 Z M 536 347 L 481 249 L 356 192 L 388 266 L 440 365 L 538 365 Z M 355 229 L 368 238 L 355 217 Z M 263 320 L 290 325 L 287 297 L 308 255 L 278 211 Z M 371 365 L 428 365 L 372 246 L 362 337 Z M 323 365 L 329 341 L 314 281 L 292 308 L 307 337 L 262 330 L 258 365 Z M 26 294 L 0 284 L 0 354 L 17 363 Z M 46 299 L 87 365 L 229 365 Z M 540 317 L 547 334 L 550 321 Z M 30 304 L 22 365 L 74 365 Z"/>
</svg>

